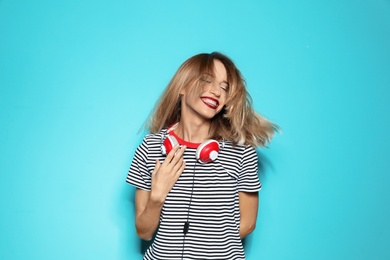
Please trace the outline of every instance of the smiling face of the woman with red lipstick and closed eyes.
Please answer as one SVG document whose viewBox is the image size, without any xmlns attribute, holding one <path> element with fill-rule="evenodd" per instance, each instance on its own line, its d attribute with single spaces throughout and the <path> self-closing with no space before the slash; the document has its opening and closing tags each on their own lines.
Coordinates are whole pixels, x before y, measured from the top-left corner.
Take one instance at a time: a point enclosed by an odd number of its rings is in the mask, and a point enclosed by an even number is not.
<svg viewBox="0 0 390 260">
<path fill-rule="evenodd" d="M 214 60 L 214 76 L 203 75 L 201 93 L 194 86 L 187 86 L 182 91 L 182 118 L 191 120 L 211 120 L 226 104 L 229 84 L 225 66 Z"/>
</svg>

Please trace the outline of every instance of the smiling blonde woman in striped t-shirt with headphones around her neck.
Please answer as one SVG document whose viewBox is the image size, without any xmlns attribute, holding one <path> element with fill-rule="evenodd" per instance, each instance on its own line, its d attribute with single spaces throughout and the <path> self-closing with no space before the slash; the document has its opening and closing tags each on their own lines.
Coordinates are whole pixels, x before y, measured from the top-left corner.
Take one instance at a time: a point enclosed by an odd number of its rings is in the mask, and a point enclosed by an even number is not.
<svg viewBox="0 0 390 260">
<path fill-rule="evenodd" d="M 240 71 L 213 52 L 185 61 L 163 92 L 127 182 L 144 259 L 245 259 L 258 209 L 258 157 L 276 125 L 257 114 Z"/>
</svg>

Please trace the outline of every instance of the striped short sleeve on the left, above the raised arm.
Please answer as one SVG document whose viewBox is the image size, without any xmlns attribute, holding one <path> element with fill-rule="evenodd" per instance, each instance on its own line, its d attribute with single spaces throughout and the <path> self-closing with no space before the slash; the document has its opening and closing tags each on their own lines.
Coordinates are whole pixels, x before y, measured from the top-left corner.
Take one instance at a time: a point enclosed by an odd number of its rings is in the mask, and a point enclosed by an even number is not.
<svg viewBox="0 0 390 260">
<path fill-rule="evenodd" d="M 133 161 L 131 162 L 126 182 L 138 189 L 151 189 L 151 173 L 147 167 L 148 145 L 146 139 L 142 141 L 135 151 Z"/>
</svg>

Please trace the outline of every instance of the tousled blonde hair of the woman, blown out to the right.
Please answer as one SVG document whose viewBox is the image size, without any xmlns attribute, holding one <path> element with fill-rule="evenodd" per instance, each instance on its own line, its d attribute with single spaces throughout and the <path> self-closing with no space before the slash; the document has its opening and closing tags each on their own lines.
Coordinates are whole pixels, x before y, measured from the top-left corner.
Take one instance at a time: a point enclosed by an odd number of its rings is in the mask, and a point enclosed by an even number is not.
<svg viewBox="0 0 390 260">
<path fill-rule="evenodd" d="M 202 91 L 205 74 L 214 75 L 214 60 L 225 66 L 228 81 L 226 106 L 211 122 L 210 138 L 230 140 L 233 144 L 266 146 L 278 126 L 256 113 L 246 90 L 245 80 L 233 61 L 224 54 L 201 53 L 186 60 L 177 70 L 149 117 L 146 127 L 157 133 L 180 121 L 183 88 Z"/>
</svg>

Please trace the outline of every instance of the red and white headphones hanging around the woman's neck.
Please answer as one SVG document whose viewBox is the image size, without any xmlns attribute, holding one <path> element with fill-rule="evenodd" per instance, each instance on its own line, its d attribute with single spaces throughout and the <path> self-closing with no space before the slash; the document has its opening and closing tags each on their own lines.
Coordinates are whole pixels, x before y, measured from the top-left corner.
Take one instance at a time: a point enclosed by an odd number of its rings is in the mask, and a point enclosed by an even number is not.
<svg viewBox="0 0 390 260">
<path fill-rule="evenodd" d="M 168 154 L 172 148 L 179 144 L 174 136 L 168 135 L 161 144 L 163 155 Z M 218 157 L 219 143 L 215 140 L 206 140 L 196 149 L 196 159 L 201 163 L 212 162 Z"/>
</svg>

